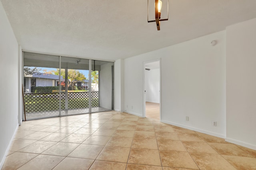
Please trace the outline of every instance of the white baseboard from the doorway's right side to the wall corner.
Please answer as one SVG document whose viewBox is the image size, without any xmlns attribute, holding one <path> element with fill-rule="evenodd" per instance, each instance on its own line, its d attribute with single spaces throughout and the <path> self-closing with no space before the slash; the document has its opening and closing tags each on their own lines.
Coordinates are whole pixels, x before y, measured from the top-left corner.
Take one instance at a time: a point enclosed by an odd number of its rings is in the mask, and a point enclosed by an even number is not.
<svg viewBox="0 0 256 170">
<path fill-rule="evenodd" d="M 196 127 L 182 125 L 182 124 L 179 124 L 179 123 L 174 123 L 174 122 L 165 121 L 165 120 L 161 120 L 161 122 L 167 123 L 167 124 L 170 124 L 170 125 L 174 125 L 174 126 L 178 126 L 178 127 L 183 127 L 183 128 L 186 128 L 186 129 L 190 129 L 192 131 L 197 131 L 197 132 L 205 133 L 207 135 L 212 135 L 212 136 L 220 137 L 220 138 L 223 138 L 223 139 L 226 138 L 226 135 L 223 135 L 223 134 L 220 134 L 220 133 L 211 132 L 211 131 L 206 131 L 204 129 L 199 129 L 199 128 L 196 128 Z"/>
</svg>

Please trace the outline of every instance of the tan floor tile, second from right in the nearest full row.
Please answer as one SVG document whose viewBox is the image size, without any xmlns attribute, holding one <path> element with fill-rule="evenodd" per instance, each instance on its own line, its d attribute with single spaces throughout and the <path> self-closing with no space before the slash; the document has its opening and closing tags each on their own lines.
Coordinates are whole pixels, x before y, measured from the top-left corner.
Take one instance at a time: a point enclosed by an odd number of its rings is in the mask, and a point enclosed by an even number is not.
<svg viewBox="0 0 256 170">
<path fill-rule="evenodd" d="M 210 170 L 236 170 L 219 154 L 190 153 L 200 169 Z"/>
</svg>

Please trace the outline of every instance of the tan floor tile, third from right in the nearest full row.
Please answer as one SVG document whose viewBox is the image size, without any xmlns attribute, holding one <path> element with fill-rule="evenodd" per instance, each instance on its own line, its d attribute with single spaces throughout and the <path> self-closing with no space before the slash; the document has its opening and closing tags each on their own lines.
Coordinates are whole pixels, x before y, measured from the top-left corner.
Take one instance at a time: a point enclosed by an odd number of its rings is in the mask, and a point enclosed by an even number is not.
<svg viewBox="0 0 256 170">
<path fill-rule="evenodd" d="M 188 152 L 159 150 L 162 166 L 199 169 Z"/>
</svg>

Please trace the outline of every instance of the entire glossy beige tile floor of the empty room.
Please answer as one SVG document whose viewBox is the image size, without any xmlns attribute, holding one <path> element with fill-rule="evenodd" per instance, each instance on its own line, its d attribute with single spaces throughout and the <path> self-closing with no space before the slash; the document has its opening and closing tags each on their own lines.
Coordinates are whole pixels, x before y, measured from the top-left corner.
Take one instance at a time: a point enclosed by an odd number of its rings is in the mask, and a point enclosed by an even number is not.
<svg viewBox="0 0 256 170">
<path fill-rule="evenodd" d="M 256 150 L 116 111 L 26 121 L 2 170 L 256 170 Z"/>
</svg>

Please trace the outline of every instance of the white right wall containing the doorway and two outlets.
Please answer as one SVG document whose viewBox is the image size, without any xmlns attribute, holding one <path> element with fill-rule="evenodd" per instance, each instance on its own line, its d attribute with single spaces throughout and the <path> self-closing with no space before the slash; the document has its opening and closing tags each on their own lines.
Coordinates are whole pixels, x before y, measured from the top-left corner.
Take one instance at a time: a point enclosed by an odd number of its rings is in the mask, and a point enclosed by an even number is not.
<svg viewBox="0 0 256 170">
<path fill-rule="evenodd" d="M 212 40 L 217 40 L 217 45 L 212 46 Z M 226 137 L 225 57 L 226 32 L 220 31 L 125 59 L 127 112 L 142 116 L 142 63 L 161 58 L 161 121 Z M 217 121 L 217 127 L 212 121 Z"/>
</svg>

